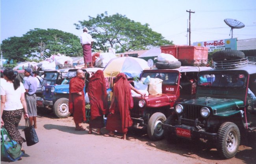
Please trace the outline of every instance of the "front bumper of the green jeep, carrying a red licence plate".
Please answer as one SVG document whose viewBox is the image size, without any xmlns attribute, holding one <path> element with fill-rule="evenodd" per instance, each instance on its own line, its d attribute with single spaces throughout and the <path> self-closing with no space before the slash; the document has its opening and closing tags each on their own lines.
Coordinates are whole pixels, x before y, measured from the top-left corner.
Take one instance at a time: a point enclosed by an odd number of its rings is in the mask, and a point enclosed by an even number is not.
<svg viewBox="0 0 256 164">
<path fill-rule="evenodd" d="M 163 130 L 165 133 L 171 133 L 171 135 L 182 137 L 182 138 L 189 138 L 189 139 L 196 139 L 196 138 L 203 138 L 206 140 L 216 141 L 217 140 L 217 133 L 209 133 L 206 131 L 198 131 L 192 126 L 186 125 L 169 125 L 169 124 L 162 124 Z M 177 131 L 180 129 L 184 129 L 185 132 L 190 133 L 189 135 L 178 135 Z"/>
</svg>

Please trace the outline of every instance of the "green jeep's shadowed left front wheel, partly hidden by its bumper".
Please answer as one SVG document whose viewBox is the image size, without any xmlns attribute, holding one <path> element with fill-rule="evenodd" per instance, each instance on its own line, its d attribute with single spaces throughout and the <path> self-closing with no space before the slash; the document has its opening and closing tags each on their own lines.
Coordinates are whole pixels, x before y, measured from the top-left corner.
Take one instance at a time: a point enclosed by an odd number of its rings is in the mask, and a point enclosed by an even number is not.
<svg viewBox="0 0 256 164">
<path fill-rule="evenodd" d="M 177 115 L 174 114 L 174 115 L 170 115 L 166 119 L 165 123 L 174 126 L 176 124 L 176 122 L 178 122 L 177 120 L 178 120 Z M 178 137 L 176 136 L 176 134 L 171 134 L 170 132 L 167 132 L 167 131 L 163 131 L 163 134 L 169 144 L 174 144 L 178 140 Z"/>
</svg>

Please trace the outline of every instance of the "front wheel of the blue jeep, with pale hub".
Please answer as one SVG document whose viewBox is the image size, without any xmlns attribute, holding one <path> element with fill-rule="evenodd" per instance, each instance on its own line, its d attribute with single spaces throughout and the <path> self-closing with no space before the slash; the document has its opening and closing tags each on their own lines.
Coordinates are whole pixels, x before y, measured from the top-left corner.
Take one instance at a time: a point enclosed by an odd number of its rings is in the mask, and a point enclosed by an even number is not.
<svg viewBox="0 0 256 164">
<path fill-rule="evenodd" d="M 69 113 L 69 99 L 59 98 L 53 106 L 54 114 L 59 118 L 67 118 L 70 116 Z"/>
</svg>

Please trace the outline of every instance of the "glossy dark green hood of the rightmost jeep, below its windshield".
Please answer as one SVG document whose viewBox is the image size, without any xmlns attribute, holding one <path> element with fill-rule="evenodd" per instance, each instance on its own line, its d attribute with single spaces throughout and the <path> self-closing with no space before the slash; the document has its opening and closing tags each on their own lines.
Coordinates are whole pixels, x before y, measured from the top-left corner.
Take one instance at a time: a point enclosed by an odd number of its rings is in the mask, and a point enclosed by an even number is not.
<svg viewBox="0 0 256 164">
<path fill-rule="evenodd" d="M 198 97 L 195 99 L 184 101 L 183 103 L 206 106 L 210 107 L 212 110 L 217 109 L 217 113 L 235 110 L 237 107 L 244 106 L 242 100 L 239 99 L 226 99 L 226 98 L 211 98 L 211 97 Z"/>
</svg>

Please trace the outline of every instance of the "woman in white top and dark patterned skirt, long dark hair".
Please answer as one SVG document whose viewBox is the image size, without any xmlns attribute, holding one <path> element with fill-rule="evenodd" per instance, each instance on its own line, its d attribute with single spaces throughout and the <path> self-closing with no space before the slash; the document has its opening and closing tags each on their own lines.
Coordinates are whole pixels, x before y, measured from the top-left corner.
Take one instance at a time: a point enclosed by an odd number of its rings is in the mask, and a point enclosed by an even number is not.
<svg viewBox="0 0 256 164">
<path fill-rule="evenodd" d="M 18 125 L 22 117 L 28 118 L 27 105 L 25 100 L 25 89 L 19 79 L 14 75 L 14 71 L 11 68 L 4 70 L 4 79 L 6 82 L 1 83 L 1 126 L 4 124 L 7 133 L 12 140 L 22 146 L 26 140 L 21 137 L 18 130 Z M 24 150 L 22 149 L 23 153 Z"/>
</svg>

